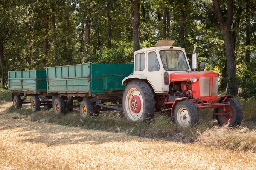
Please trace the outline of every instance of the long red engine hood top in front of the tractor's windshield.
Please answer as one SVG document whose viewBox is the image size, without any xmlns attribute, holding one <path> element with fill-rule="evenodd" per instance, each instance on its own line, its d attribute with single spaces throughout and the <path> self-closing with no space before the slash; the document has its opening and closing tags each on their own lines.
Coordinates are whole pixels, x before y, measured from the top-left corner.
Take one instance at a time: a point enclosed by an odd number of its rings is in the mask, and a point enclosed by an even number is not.
<svg viewBox="0 0 256 170">
<path fill-rule="evenodd" d="M 170 81 L 186 81 L 187 79 L 192 79 L 196 77 L 199 79 L 200 77 L 217 77 L 218 74 L 212 71 L 185 71 L 185 72 L 177 72 L 170 74 Z"/>
</svg>

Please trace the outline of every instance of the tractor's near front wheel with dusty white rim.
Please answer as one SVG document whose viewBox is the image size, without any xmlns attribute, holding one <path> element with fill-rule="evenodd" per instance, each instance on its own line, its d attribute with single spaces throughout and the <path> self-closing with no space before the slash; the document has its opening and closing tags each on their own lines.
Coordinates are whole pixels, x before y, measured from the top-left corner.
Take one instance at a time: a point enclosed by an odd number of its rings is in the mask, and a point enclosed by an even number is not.
<svg viewBox="0 0 256 170">
<path fill-rule="evenodd" d="M 199 121 L 198 110 L 189 100 L 177 103 L 174 108 L 174 122 L 180 127 L 190 127 Z"/>
</svg>

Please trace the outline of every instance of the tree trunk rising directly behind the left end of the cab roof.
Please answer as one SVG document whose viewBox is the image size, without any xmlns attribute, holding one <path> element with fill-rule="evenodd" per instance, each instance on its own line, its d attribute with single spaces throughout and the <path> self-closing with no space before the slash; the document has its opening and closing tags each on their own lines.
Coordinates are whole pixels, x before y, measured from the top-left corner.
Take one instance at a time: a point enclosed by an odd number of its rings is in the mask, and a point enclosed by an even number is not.
<svg viewBox="0 0 256 170">
<path fill-rule="evenodd" d="M 133 51 L 137 51 L 140 49 L 140 0 L 130 0 L 130 3 L 133 29 Z"/>
</svg>

